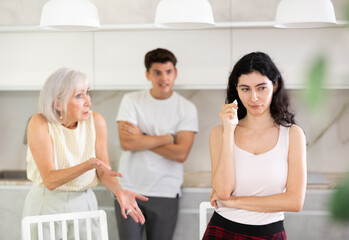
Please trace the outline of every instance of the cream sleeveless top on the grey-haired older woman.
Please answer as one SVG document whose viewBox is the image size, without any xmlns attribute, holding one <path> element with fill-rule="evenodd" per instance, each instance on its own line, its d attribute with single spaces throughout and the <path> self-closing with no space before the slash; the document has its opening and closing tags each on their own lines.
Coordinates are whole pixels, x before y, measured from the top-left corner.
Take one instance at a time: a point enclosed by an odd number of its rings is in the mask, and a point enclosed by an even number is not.
<svg viewBox="0 0 349 240">
<path fill-rule="evenodd" d="M 68 129 L 61 124 L 48 123 L 53 142 L 56 169 L 66 169 L 96 157 L 96 130 L 93 113 L 87 121 L 79 121 L 76 129 Z M 27 150 L 27 176 L 33 183 L 44 186 L 31 150 Z M 62 191 L 83 191 L 98 184 L 96 170 L 91 169 L 74 180 L 58 187 Z"/>
</svg>

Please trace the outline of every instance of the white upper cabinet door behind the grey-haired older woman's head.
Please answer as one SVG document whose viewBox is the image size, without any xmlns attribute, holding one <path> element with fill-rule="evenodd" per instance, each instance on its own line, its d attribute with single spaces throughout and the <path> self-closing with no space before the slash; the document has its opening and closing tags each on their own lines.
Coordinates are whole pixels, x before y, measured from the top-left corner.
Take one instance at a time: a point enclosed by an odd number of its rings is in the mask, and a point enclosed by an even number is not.
<svg viewBox="0 0 349 240">
<path fill-rule="evenodd" d="M 1 33 L 0 89 L 41 89 L 61 67 L 79 69 L 92 78 L 92 45 L 92 33 Z"/>
</svg>

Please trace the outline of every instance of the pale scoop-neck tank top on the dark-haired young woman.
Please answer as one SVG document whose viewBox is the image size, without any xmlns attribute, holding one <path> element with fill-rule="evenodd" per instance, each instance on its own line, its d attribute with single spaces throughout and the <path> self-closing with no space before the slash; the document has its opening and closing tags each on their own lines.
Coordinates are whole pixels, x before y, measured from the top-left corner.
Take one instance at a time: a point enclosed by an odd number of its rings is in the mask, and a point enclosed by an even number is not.
<svg viewBox="0 0 349 240">
<path fill-rule="evenodd" d="M 232 196 L 268 196 L 285 191 L 288 171 L 289 128 L 280 126 L 273 149 L 252 154 L 234 143 L 236 188 Z M 218 202 L 221 216 L 238 223 L 264 225 L 284 219 L 283 212 L 253 212 L 226 208 Z"/>
</svg>

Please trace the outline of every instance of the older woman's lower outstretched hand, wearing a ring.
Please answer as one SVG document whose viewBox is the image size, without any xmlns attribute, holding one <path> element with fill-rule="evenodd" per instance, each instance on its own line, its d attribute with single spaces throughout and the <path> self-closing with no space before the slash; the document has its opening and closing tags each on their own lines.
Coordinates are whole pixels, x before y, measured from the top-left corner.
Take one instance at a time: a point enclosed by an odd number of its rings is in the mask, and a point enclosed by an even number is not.
<svg viewBox="0 0 349 240">
<path fill-rule="evenodd" d="M 125 219 L 130 215 L 136 223 L 140 222 L 141 224 L 144 224 L 145 218 L 138 207 L 136 199 L 138 198 L 141 201 L 148 201 L 148 198 L 126 189 L 117 191 L 116 197 L 120 204 L 121 214 Z"/>
</svg>

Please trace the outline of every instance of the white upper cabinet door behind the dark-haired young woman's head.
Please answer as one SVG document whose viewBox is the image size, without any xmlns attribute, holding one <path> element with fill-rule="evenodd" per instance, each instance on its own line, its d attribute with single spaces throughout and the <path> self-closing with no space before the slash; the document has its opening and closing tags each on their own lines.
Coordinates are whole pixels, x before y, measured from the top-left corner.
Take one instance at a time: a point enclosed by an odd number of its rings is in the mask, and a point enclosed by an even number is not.
<svg viewBox="0 0 349 240">
<path fill-rule="evenodd" d="M 328 63 L 325 85 L 349 87 L 349 35 L 345 28 L 234 29 L 233 63 L 253 51 L 268 53 L 287 88 L 305 87 L 311 63 L 323 54 Z"/>
</svg>

